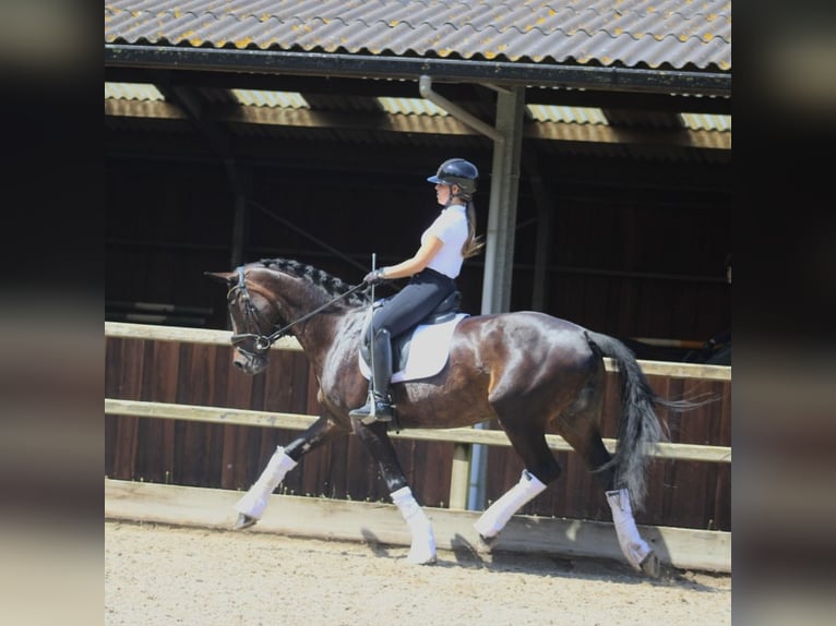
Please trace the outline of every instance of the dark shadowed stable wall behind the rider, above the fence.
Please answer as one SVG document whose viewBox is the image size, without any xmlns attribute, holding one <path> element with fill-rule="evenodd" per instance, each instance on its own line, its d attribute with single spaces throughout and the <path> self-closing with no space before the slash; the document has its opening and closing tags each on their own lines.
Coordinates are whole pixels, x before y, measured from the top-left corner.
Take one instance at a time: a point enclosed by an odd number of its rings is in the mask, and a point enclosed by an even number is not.
<svg viewBox="0 0 836 626">
<path fill-rule="evenodd" d="M 437 158 L 381 176 L 333 165 L 243 167 L 242 261 L 287 256 L 357 282 L 372 254 L 379 266 L 410 256 L 439 210 L 426 181 Z M 488 154 L 470 158 L 490 164 Z M 385 165 L 381 160 L 384 171 Z M 375 164 L 363 166 L 373 170 Z M 540 160 L 540 176 L 556 172 L 546 180 L 552 222 L 545 237 L 540 310 L 626 340 L 700 342 L 729 329 L 729 168 L 606 159 L 587 159 L 586 166 L 578 159 Z M 203 275 L 232 268 L 237 198 L 224 168 L 211 161 L 108 159 L 106 169 L 106 318 L 121 320 L 123 309 L 114 303 L 166 303 L 184 308 L 187 320 L 175 314 L 163 323 L 226 328 L 225 293 Z M 480 183 L 475 202 L 485 233 L 490 181 Z M 524 169 L 511 310 L 534 308 L 544 200 L 534 195 Z M 471 314 L 481 310 L 483 262 L 483 255 L 468 260 L 458 278 L 462 308 Z M 381 289 L 385 294 L 389 287 Z M 189 320 L 191 308 L 211 312 Z M 685 354 L 684 348 L 631 347 L 640 358 L 680 361 Z"/>
</svg>

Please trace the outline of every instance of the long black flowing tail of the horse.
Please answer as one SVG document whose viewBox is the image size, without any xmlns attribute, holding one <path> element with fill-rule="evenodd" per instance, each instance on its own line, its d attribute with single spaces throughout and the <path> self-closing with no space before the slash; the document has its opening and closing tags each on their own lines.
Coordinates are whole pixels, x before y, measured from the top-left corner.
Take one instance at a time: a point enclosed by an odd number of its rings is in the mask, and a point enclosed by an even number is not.
<svg viewBox="0 0 836 626">
<path fill-rule="evenodd" d="M 638 510 L 646 493 L 647 452 L 668 440 L 655 408 L 665 406 L 683 410 L 692 405 L 657 396 L 633 352 L 614 337 L 592 330 L 586 330 L 586 337 L 594 349 L 616 361 L 621 374 L 621 416 L 616 454 L 612 460 L 596 471 L 614 467 L 613 489 L 626 489 L 634 509 Z"/>
</svg>

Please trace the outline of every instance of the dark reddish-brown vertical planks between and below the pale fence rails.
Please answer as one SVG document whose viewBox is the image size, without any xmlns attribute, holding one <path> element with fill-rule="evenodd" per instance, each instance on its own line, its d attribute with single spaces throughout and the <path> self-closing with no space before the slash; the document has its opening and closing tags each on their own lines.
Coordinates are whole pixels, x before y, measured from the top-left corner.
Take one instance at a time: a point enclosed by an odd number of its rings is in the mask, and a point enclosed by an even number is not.
<svg viewBox="0 0 836 626">
<path fill-rule="evenodd" d="M 318 414 L 315 378 L 298 351 L 277 351 L 268 371 L 247 376 L 231 365 L 226 346 L 150 339 L 106 338 L 105 396 L 129 400 L 275 410 Z M 670 441 L 731 445 L 731 385 L 649 376 L 668 398 L 710 394 L 719 401 L 684 416 L 661 417 Z M 618 381 L 608 374 L 604 436 L 614 437 Z M 105 474 L 111 479 L 186 486 L 246 490 L 277 445 L 298 431 L 105 416 Z M 445 507 L 450 497 L 453 444 L 395 440 L 402 465 L 422 504 Z M 573 453 L 559 453 L 564 471 L 524 515 L 611 521 L 594 477 Z M 519 479 L 522 464 L 511 448 L 488 447 L 486 494 L 499 497 Z M 731 530 L 731 472 L 727 464 L 650 461 L 646 507 L 638 523 Z M 356 437 L 306 456 L 279 487 L 290 495 L 389 502 L 366 449 Z"/>
</svg>

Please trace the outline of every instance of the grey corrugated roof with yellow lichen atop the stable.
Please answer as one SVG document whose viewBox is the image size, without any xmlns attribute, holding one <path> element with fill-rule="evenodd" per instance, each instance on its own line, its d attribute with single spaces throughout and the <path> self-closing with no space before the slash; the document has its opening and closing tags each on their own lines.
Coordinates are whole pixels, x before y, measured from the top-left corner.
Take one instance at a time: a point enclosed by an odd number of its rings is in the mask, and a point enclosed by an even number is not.
<svg viewBox="0 0 836 626">
<path fill-rule="evenodd" d="M 106 0 L 106 44 L 731 70 L 730 0 Z"/>
</svg>

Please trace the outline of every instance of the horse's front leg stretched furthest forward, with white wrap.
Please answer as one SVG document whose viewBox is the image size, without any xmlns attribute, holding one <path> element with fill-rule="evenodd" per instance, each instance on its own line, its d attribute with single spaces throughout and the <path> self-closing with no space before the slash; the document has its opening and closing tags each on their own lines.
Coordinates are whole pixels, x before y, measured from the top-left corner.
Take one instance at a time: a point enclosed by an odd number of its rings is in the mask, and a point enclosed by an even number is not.
<svg viewBox="0 0 836 626">
<path fill-rule="evenodd" d="M 303 455 L 333 440 L 335 435 L 346 433 L 346 430 L 338 426 L 331 418 L 322 416 L 287 447 L 277 446 L 259 480 L 236 503 L 238 519 L 232 530 L 249 528 L 261 519 L 267 507 L 270 494 L 285 479 L 287 472 L 296 467 Z"/>
</svg>

